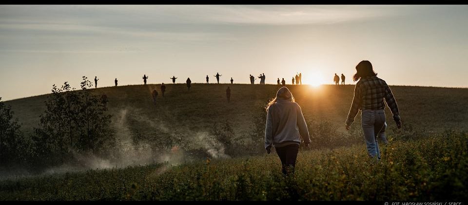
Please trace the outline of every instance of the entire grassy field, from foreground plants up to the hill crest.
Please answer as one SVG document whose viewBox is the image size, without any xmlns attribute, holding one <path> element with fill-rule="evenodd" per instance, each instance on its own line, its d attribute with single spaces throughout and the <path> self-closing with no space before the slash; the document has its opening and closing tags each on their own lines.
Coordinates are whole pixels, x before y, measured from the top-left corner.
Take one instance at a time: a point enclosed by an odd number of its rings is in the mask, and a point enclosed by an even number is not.
<svg viewBox="0 0 468 205">
<path fill-rule="evenodd" d="M 94 159 L 88 171 L 64 173 L 73 170 L 67 164 L 51 169 L 65 171 L 49 172 L 56 174 L 4 179 L 0 200 L 467 200 L 468 89 L 390 86 L 403 129 L 395 130 L 386 108 L 391 142 L 375 163 L 367 157 L 359 114 L 353 130 L 344 129 L 354 85 L 288 85 L 314 144 L 301 148 L 294 177 L 283 178 L 275 153 L 225 150 L 208 137 L 214 126 L 228 123 L 232 139 L 243 142 L 234 144 L 252 145 L 247 136 L 261 125 L 262 106 L 278 88 L 194 83 L 188 91 L 185 84 L 168 84 L 165 98 L 156 84 L 94 89 L 108 96 L 116 138 L 134 144 L 128 157 L 118 166 Z M 5 103 L 27 134 L 38 125 L 46 99 Z M 168 146 L 155 149 L 160 143 Z"/>
</svg>

